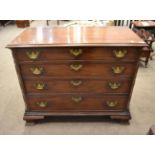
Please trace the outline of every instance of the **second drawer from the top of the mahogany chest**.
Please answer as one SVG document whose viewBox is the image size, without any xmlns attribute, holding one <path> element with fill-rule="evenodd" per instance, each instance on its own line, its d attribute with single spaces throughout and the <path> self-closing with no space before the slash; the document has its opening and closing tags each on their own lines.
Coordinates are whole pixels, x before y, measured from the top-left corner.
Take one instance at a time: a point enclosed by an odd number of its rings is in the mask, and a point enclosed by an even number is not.
<svg viewBox="0 0 155 155">
<path fill-rule="evenodd" d="M 136 63 L 59 63 L 59 64 L 43 64 L 30 63 L 20 65 L 21 72 L 24 76 L 31 77 L 83 77 L 83 76 L 127 76 L 134 75 Z"/>
</svg>

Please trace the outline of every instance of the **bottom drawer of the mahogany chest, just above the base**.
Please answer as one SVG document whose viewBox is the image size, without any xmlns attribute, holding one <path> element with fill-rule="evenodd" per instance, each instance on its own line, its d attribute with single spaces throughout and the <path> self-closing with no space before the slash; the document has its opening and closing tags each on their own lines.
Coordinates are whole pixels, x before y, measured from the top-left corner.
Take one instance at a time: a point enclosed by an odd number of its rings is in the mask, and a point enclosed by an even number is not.
<svg viewBox="0 0 155 155">
<path fill-rule="evenodd" d="M 55 95 L 29 96 L 31 111 L 113 111 L 127 107 L 127 96 Z"/>
</svg>

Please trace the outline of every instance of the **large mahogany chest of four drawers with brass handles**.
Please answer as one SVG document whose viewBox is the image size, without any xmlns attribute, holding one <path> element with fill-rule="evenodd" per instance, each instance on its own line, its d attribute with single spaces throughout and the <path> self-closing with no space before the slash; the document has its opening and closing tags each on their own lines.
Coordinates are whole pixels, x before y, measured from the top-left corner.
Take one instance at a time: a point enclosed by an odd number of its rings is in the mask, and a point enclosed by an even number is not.
<svg viewBox="0 0 155 155">
<path fill-rule="evenodd" d="M 12 50 L 27 122 L 46 116 L 129 120 L 141 49 L 126 27 L 29 28 Z"/>
</svg>

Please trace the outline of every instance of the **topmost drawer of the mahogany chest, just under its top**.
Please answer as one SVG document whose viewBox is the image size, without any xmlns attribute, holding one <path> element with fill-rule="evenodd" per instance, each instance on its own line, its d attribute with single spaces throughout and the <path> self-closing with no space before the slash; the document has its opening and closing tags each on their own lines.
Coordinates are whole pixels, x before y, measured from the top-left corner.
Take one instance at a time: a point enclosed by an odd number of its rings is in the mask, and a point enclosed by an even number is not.
<svg viewBox="0 0 155 155">
<path fill-rule="evenodd" d="M 16 49 L 19 61 L 105 60 L 136 61 L 140 52 L 133 47 L 51 47 Z"/>
</svg>

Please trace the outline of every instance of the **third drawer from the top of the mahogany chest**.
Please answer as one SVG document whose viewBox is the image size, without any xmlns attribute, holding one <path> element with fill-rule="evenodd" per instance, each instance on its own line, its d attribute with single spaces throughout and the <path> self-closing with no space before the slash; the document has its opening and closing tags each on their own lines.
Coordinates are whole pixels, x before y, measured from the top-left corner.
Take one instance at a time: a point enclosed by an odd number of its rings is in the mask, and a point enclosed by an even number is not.
<svg viewBox="0 0 155 155">
<path fill-rule="evenodd" d="M 127 79 L 34 79 L 25 80 L 27 93 L 128 93 L 131 81 Z"/>
</svg>

